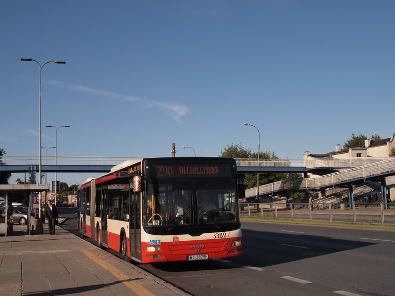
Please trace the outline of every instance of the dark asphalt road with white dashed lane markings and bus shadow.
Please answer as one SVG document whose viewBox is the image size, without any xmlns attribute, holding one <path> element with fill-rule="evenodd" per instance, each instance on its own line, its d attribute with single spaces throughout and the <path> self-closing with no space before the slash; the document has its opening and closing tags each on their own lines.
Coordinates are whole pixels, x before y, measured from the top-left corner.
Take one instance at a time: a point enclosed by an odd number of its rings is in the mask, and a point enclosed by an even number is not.
<svg viewBox="0 0 395 296">
<path fill-rule="evenodd" d="M 63 227 L 78 234 L 75 209 L 64 210 Z M 196 296 L 395 295 L 395 231 L 267 222 L 242 227 L 242 257 L 137 265 Z"/>
</svg>

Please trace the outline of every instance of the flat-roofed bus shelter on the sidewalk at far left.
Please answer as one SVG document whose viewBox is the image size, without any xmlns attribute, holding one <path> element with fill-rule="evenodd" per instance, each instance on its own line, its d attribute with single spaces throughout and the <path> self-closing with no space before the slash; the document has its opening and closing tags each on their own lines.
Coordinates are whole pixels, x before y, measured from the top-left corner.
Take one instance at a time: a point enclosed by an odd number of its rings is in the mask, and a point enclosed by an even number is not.
<svg viewBox="0 0 395 296">
<path fill-rule="evenodd" d="M 39 221 L 40 219 L 32 219 L 30 215 L 30 210 L 33 208 L 33 193 L 39 192 L 48 192 L 49 185 L 48 184 L 22 184 L 22 185 L 8 185 L 8 184 L 0 184 L 0 208 L 2 209 L 2 215 L 0 215 L 0 234 L 4 234 L 7 236 L 7 211 L 8 211 L 8 198 L 10 193 L 19 193 L 24 192 L 27 196 L 27 212 L 28 212 L 28 233 L 30 234 L 42 234 L 42 222 L 43 220 Z M 38 206 L 40 209 L 40 205 L 37 203 L 35 206 Z M 40 231 L 41 229 L 41 231 Z"/>
</svg>

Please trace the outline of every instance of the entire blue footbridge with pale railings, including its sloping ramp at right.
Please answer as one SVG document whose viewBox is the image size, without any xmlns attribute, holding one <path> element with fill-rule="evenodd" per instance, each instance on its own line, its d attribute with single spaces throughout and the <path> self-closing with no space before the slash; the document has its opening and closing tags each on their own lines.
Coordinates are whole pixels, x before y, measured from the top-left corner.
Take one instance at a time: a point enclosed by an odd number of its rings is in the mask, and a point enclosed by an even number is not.
<svg viewBox="0 0 395 296">
<path fill-rule="evenodd" d="M 0 172 L 23 173 L 39 170 L 39 156 L 1 156 Z M 43 173 L 106 173 L 126 161 L 144 157 L 96 157 L 96 156 L 44 156 L 41 157 Z M 259 186 L 259 196 L 273 196 L 286 191 L 348 188 L 347 194 L 356 185 L 386 187 L 386 178 L 395 175 L 395 157 L 350 157 L 307 159 L 236 159 L 239 173 L 303 173 L 303 179 L 280 181 Z M 307 178 L 308 173 L 318 178 Z M 375 184 L 375 185 L 374 185 Z M 382 188 L 380 188 L 382 191 Z M 372 192 L 372 188 L 369 192 Z M 343 189 L 344 191 L 344 189 Z M 366 191 L 366 190 L 365 190 Z M 353 192 L 351 192 L 353 194 Z M 323 194 L 325 195 L 325 194 Z M 246 190 L 246 198 L 256 197 L 257 188 Z"/>
</svg>

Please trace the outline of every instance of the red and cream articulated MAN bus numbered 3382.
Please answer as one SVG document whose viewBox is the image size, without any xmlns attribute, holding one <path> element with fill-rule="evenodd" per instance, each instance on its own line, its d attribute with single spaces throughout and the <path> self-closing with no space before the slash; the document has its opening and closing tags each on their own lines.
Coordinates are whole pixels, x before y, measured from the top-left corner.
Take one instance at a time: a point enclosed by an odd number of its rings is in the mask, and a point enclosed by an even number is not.
<svg viewBox="0 0 395 296">
<path fill-rule="evenodd" d="M 241 256 L 233 158 L 125 161 L 78 188 L 82 237 L 142 263 Z"/>
</svg>

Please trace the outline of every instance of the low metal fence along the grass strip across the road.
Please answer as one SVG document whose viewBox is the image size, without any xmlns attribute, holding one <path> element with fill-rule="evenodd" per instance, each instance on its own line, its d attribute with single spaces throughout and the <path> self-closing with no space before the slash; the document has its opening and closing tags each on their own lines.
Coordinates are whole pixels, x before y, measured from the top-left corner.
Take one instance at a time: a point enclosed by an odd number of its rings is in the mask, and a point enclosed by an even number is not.
<svg viewBox="0 0 395 296">
<path fill-rule="evenodd" d="M 240 204 L 240 216 L 394 225 L 395 204 Z"/>
</svg>

